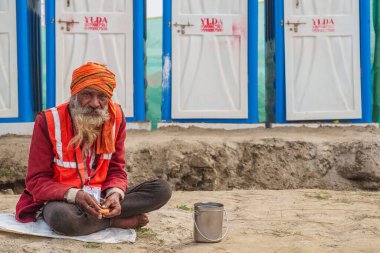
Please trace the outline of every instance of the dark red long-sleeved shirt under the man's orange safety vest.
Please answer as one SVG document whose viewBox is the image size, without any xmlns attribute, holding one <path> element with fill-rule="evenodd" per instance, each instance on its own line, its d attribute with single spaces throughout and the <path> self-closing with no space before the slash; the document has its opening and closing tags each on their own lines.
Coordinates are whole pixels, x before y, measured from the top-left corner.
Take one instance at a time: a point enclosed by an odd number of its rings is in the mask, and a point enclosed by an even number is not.
<svg viewBox="0 0 380 253">
<path fill-rule="evenodd" d="M 112 154 L 102 191 L 116 187 L 125 192 L 127 188 L 127 174 L 124 170 L 125 127 L 126 123 L 123 120 L 116 136 L 116 151 Z M 26 189 L 16 206 L 17 220 L 21 222 L 35 221 L 36 212 L 46 201 L 63 201 L 66 191 L 72 188 L 72 186 L 63 185 L 53 179 L 53 159 L 53 145 L 49 138 L 46 120 L 41 113 L 37 116 L 34 125 L 25 179 Z M 35 201 L 35 199 L 40 201 Z"/>
</svg>

